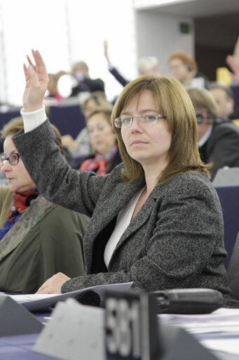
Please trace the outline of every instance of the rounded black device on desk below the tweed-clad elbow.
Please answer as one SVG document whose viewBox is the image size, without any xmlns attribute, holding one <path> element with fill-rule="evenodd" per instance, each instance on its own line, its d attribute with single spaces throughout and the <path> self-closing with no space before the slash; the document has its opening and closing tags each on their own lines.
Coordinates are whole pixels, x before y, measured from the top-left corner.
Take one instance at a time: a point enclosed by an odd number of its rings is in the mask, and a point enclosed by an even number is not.
<svg viewBox="0 0 239 360">
<path fill-rule="evenodd" d="M 172 289 L 151 293 L 158 314 L 209 314 L 224 304 L 223 295 L 213 289 Z"/>
</svg>

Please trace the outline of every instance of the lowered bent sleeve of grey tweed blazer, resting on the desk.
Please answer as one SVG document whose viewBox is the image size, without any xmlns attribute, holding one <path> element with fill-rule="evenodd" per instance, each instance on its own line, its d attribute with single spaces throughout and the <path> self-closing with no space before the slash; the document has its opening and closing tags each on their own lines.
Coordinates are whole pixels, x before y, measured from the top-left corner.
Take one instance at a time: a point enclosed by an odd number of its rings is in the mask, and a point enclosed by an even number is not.
<svg viewBox="0 0 239 360">
<path fill-rule="evenodd" d="M 218 277 L 224 283 L 226 272 L 223 259 L 226 252 L 217 195 L 199 181 L 191 185 L 180 183 L 168 190 L 164 199 L 158 200 L 161 202 L 158 211 L 149 219 L 149 223 L 153 223 L 153 230 L 147 228 L 146 232 L 142 231 L 142 238 L 138 233 L 132 248 L 129 246 L 132 240 L 128 238 L 127 251 L 121 254 L 120 260 L 116 259 L 116 262 L 121 261 L 118 271 L 73 278 L 62 285 L 62 293 L 92 285 L 128 281 L 133 281 L 135 288 L 144 291 L 203 287 L 206 282 L 211 288 L 217 288 Z M 144 207 L 141 211 L 144 211 Z M 150 236 L 146 238 L 148 232 Z M 135 246 L 140 248 L 145 242 L 142 257 L 133 260 L 127 268 L 126 259 L 128 263 L 131 258 L 134 259 Z M 214 252 L 217 256 L 214 256 Z M 212 273 L 217 269 L 212 283 L 210 276 L 205 274 L 207 266 L 212 266 Z"/>
</svg>

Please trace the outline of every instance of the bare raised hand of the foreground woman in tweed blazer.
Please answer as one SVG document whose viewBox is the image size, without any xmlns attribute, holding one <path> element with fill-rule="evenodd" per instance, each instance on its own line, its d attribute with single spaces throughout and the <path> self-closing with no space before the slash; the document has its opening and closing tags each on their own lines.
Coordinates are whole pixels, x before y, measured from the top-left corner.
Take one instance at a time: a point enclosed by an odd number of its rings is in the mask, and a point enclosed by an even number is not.
<svg viewBox="0 0 239 360">
<path fill-rule="evenodd" d="M 23 65 L 26 79 L 25 91 L 23 94 L 24 111 L 39 110 L 42 107 L 43 97 L 46 93 L 48 84 L 48 74 L 46 65 L 43 62 L 38 50 L 32 50 L 35 64 L 32 63 L 29 56 L 27 60 L 29 65 Z"/>
</svg>

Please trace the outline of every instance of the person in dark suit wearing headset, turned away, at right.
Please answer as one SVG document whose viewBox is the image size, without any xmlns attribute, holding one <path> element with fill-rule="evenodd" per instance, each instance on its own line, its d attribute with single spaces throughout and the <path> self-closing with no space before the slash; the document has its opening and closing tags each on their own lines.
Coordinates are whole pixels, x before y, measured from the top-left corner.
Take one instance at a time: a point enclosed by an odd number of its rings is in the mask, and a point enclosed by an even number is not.
<svg viewBox="0 0 239 360">
<path fill-rule="evenodd" d="M 221 167 L 239 166 L 239 128 L 228 119 L 220 119 L 217 104 L 209 91 L 188 89 L 198 122 L 198 147 L 203 162 L 212 162 L 212 179 Z"/>
</svg>

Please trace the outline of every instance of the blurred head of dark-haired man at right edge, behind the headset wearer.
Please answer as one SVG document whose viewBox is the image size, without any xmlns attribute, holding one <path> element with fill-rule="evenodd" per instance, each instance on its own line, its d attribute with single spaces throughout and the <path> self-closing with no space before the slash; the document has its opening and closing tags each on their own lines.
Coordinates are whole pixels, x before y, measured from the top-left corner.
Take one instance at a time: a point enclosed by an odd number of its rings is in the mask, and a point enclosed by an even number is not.
<svg viewBox="0 0 239 360">
<path fill-rule="evenodd" d="M 217 112 L 219 117 L 226 117 L 226 119 L 238 119 L 239 115 L 233 113 L 234 109 L 234 95 L 229 86 L 213 82 L 209 88 L 210 94 L 217 103 Z M 238 117 L 236 117 L 238 116 Z"/>
</svg>

